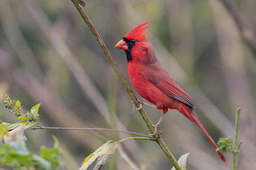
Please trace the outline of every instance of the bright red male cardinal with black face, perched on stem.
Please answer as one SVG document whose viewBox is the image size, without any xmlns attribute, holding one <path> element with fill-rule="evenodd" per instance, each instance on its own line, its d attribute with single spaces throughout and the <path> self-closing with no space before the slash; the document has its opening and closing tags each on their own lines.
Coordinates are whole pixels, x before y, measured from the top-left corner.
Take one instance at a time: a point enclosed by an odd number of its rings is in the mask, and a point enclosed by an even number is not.
<svg viewBox="0 0 256 170">
<path fill-rule="evenodd" d="M 144 22 L 128 32 L 115 45 L 115 48 L 120 48 L 126 53 L 128 74 L 134 89 L 141 97 L 150 103 L 156 104 L 157 109 L 163 110 L 163 115 L 154 126 L 155 131 L 168 108 L 178 110 L 198 125 L 221 159 L 227 162 L 204 125 L 198 120 L 193 110 L 195 105 L 189 99 L 188 94 L 184 92 L 179 83 L 157 61 L 153 47 L 145 37 L 145 30 L 148 28 L 145 25 L 148 22 Z"/>
</svg>

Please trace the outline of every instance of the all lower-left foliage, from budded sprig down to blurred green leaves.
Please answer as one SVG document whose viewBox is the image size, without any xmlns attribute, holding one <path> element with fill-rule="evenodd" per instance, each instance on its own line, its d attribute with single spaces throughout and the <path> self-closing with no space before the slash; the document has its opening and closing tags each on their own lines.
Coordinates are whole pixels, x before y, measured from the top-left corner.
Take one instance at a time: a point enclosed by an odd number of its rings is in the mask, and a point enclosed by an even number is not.
<svg viewBox="0 0 256 170">
<path fill-rule="evenodd" d="M 17 117 L 18 122 L 9 124 L 0 122 L 0 167 L 2 169 L 63 169 L 61 150 L 58 139 L 53 136 L 54 146 L 48 149 L 40 147 L 40 155 L 29 152 L 26 146 L 24 131 L 38 123 L 40 103 L 24 113 L 19 100 L 3 95 L 3 85 L 0 86 L 0 99 L 5 108 Z M 3 143 L 3 140 L 4 142 Z"/>
</svg>

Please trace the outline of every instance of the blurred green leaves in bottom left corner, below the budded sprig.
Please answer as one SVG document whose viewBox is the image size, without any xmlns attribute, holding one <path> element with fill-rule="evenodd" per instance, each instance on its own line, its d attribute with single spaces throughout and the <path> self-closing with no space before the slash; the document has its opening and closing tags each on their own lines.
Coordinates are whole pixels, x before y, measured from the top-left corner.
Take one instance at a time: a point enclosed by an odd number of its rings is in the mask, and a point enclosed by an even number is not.
<svg viewBox="0 0 256 170">
<path fill-rule="evenodd" d="M 16 141 L 0 143 L 0 167 L 10 169 L 63 169 L 61 150 L 58 140 L 54 139 L 53 148 L 41 146 L 40 155 L 29 152 L 24 139 L 16 136 Z"/>
</svg>

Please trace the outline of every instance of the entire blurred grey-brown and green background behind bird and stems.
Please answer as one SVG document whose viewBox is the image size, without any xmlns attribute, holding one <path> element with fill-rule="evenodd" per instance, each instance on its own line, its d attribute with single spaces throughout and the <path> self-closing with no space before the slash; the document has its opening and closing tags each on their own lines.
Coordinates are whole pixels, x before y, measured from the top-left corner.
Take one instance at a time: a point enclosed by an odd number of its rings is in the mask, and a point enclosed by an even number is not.
<svg viewBox="0 0 256 170">
<path fill-rule="evenodd" d="M 256 1 L 232 1 L 245 25 L 256 32 Z M 214 141 L 234 139 L 236 110 L 241 107 L 238 169 L 256 168 L 256 55 L 244 43 L 221 1 L 86 1 L 84 7 L 125 78 L 127 60 L 115 44 L 136 25 L 150 20 L 147 38 L 159 62 L 179 81 L 196 105 L 196 113 Z M 71 1 L 0 1 L 0 85 L 8 87 L 24 109 L 40 106 L 40 125 L 102 127 L 148 134 L 138 111 L 118 80 L 97 41 Z M 131 84 L 131 83 L 130 83 Z M 136 94 L 141 99 L 138 94 Z M 156 124 L 161 111 L 144 106 Z M 15 116 L 0 105 L 0 119 Z M 231 169 L 218 157 L 204 134 L 178 111 L 169 110 L 161 123 L 163 139 L 188 169 Z M 67 169 L 108 139 L 128 137 L 116 132 L 26 131 L 30 150 L 52 147 L 60 139 Z M 151 141 L 126 141 L 103 169 L 170 169 L 172 164 Z M 122 152 L 120 150 L 120 152 Z"/>
</svg>

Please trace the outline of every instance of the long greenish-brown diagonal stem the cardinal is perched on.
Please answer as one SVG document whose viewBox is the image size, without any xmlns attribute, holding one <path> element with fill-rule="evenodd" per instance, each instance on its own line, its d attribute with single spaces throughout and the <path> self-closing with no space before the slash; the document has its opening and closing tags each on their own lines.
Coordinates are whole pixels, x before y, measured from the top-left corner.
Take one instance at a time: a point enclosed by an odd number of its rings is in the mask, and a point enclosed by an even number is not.
<svg viewBox="0 0 256 170">
<path fill-rule="evenodd" d="M 88 25 L 88 27 L 90 28 L 90 30 L 92 31 L 93 36 L 95 37 L 95 39 L 98 41 L 100 47 L 102 48 L 102 51 L 105 53 L 106 57 L 109 60 L 109 63 L 111 64 L 111 66 L 113 66 L 113 69 L 115 70 L 116 74 L 118 75 L 118 78 L 122 81 L 127 93 L 129 94 L 129 96 L 131 97 L 133 103 L 135 104 L 135 106 L 137 108 L 140 107 L 140 102 L 138 101 L 138 99 L 136 98 L 136 96 L 134 95 L 134 93 L 131 90 L 131 87 L 129 87 L 127 81 L 125 80 L 124 76 L 122 75 L 120 69 L 118 68 L 118 66 L 116 65 L 115 60 L 113 59 L 113 57 L 111 56 L 111 54 L 109 53 L 108 48 L 106 47 L 106 45 L 104 44 L 104 42 L 102 41 L 102 39 L 100 38 L 99 33 L 97 32 L 97 30 L 95 29 L 95 27 L 93 26 L 92 22 L 90 21 L 90 19 L 88 18 L 88 16 L 86 15 L 86 13 L 84 12 L 83 8 L 81 6 L 79 6 L 79 4 L 76 3 L 75 0 L 71 0 L 72 3 L 74 4 L 74 6 L 76 6 L 77 11 L 79 11 L 81 17 L 83 17 L 84 22 L 86 22 L 86 24 Z M 145 121 L 145 123 L 147 124 L 147 127 L 149 129 L 149 131 L 153 134 L 154 132 L 154 127 L 152 126 L 152 124 L 150 123 L 150 120 L 148 119 L 147 115 L 145 114 L 145 112 L 143 111 L 143 109 L 138 110 L 140 112 L 141 117 L 143 118 L 143 120 Z M 181 170 L 177 160 L 175 159 L 175 157 L 173 157 L 172 153 L 170 152 L 170 150 L 168 149 L 168 147 L 165 145 L 163 139 L 161 138 L 161 136 L 158 136 L 159 134 L 155 134 L 154 138 L 156 139 L 157 144 L 162 148 L 162 150 L 164 151 L 164 153 L 166 154 L 166 156 L 168 157 L 168 159 L 170 159 L 170 161 L 172 162 L 173 166 L 176 169 Z"/>
</svg>

